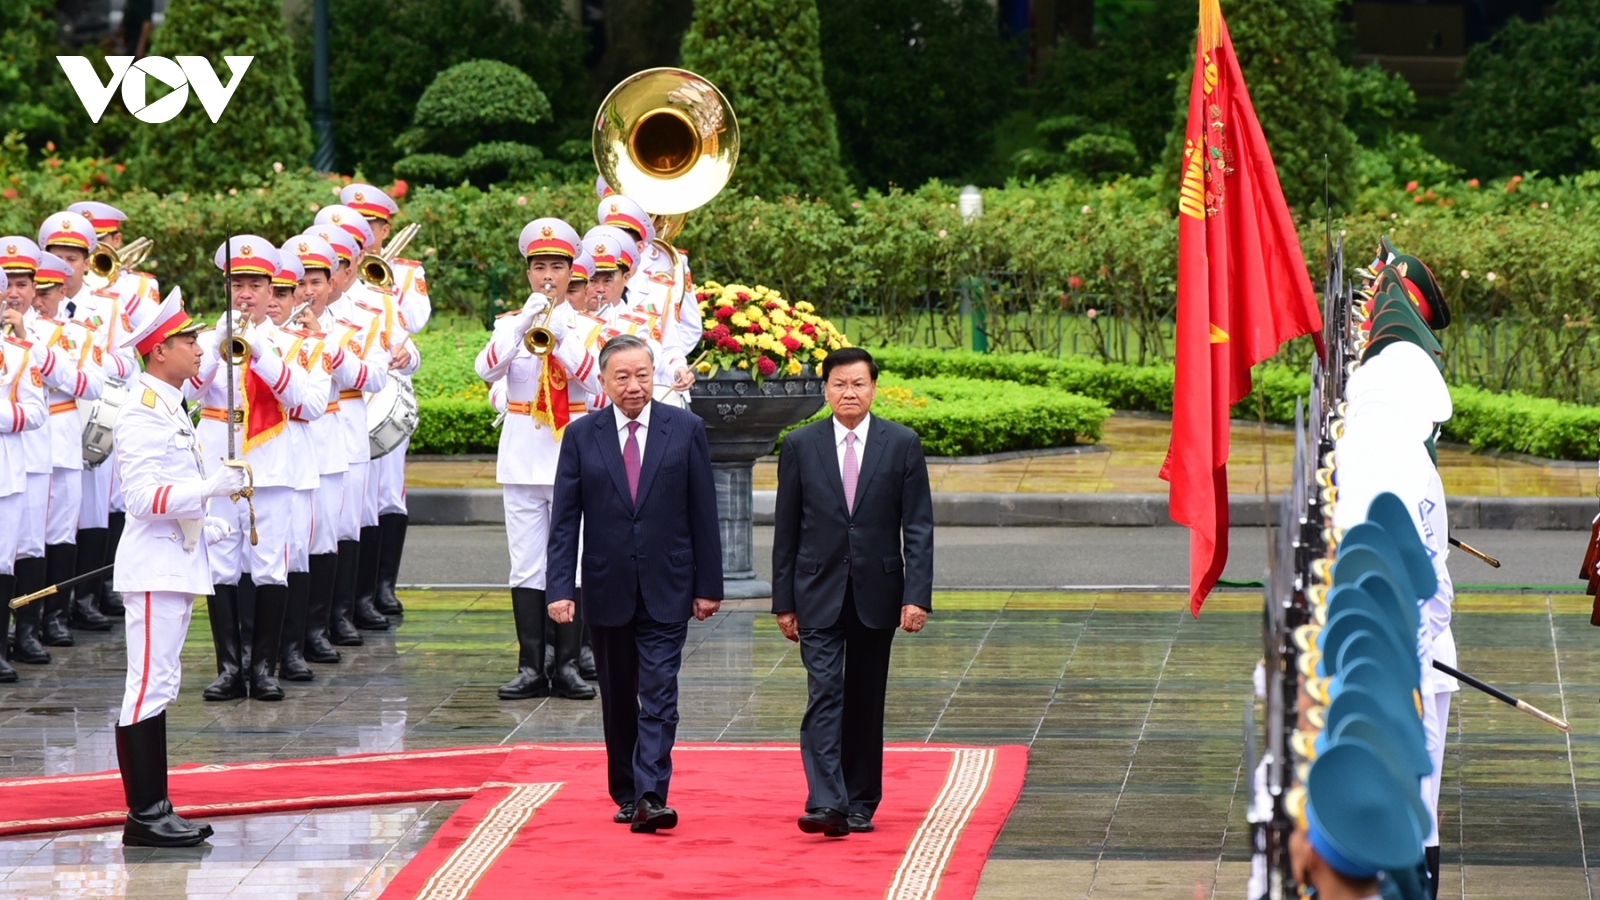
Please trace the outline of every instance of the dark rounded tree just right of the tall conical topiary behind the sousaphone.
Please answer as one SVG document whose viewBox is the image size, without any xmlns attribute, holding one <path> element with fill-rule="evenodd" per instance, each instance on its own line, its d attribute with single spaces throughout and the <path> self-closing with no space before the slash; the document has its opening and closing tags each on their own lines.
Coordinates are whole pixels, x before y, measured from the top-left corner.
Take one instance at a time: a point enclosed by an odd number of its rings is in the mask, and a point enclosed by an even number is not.
<svg viewBox="0 0 1600 900">
<path fill-rule="evenodd" d="M 1016 101 L 1024 56 L 986 0 L 818 0 L 827 93 L 858 187 L 960 178 Z M 744 109 L 739 109 L 741 117 Z"/>
</svg>

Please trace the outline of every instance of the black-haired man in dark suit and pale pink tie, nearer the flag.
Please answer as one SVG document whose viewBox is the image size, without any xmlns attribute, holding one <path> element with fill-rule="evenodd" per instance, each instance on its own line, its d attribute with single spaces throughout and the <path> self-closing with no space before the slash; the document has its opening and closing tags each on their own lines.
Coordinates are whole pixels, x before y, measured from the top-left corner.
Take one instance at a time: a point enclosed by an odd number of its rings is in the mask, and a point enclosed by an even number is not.
<svg viewBox="0 0 1600 900">
<path fill-rule="evenodd" d="M 800 830 L 872 831 L 883 798 L 883 693 L 894 628 L 933 609 L 933 495 L 922 442 L 874 418 L 878 367 L 859 348 L 822 360 L 834 415 L 792 431 L 778 456 L 773 613 L 800 642 L 810 695 Z"/>
</svg>

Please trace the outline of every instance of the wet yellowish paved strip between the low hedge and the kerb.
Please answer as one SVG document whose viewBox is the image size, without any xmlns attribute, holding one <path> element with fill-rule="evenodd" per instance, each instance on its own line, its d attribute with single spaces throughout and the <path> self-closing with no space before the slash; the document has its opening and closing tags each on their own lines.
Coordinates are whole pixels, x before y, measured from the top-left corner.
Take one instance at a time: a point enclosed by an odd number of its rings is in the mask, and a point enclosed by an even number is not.
<svg viewBox="0 0 1600 900">
<path fill-rule="evenodd" d="M 1171 421 L 1117 415 L 1106 420 L 1098 448 L 1030 456 L 1000 463 L 949 463 L 933 460 L 928 474 L 939 492 L 1016 493 L 1166 493 L 1157 472 L 1166 458 Z M 1229 456 L 1229 492 L 1261 493 L 1261 434 L 1254 426 L 1234 424 Z M 1267 474 L 1275 490 L 1286 484 L 1294 456 L 1293 432 L 1267 431 Z M 1450 496 L 1594 496 L 1595 466 L 1531 458 L 1499 458 L 1445 447 L 1438 474 Z M 493 488 L 493 460 L 426 460 L 406 466 L 410 487 Z M 755 466 L 755 490 L 778 487 L 778 463 Z"/>
</svg>

